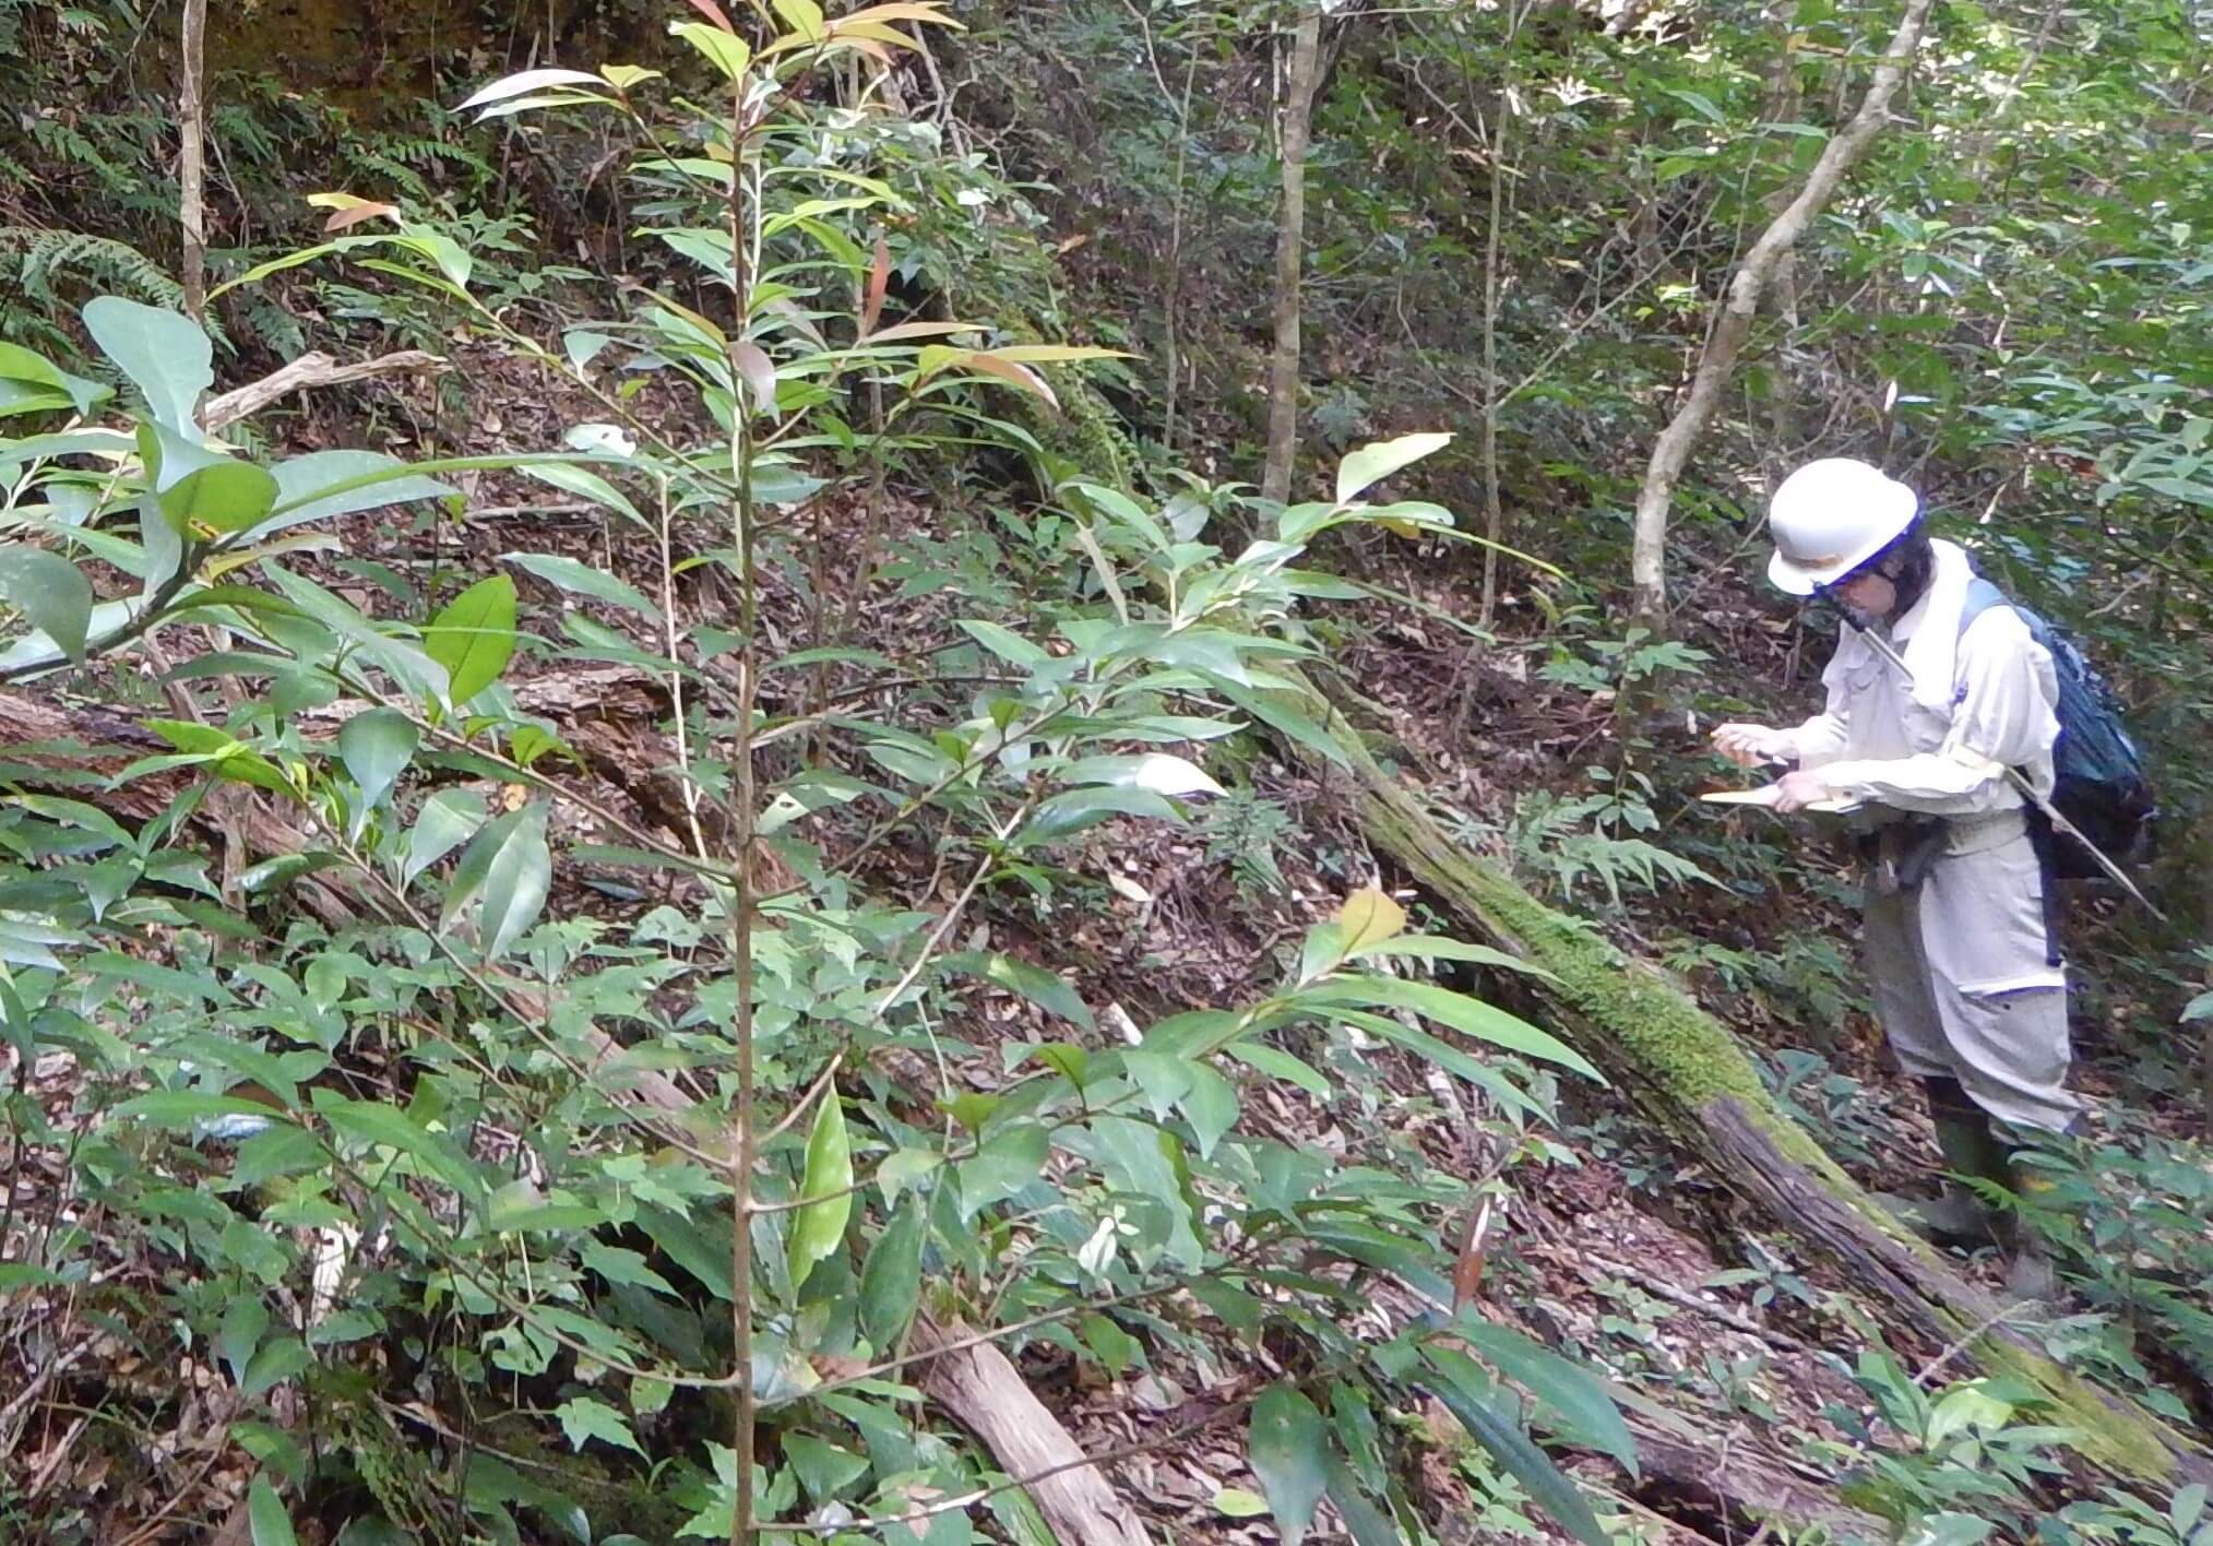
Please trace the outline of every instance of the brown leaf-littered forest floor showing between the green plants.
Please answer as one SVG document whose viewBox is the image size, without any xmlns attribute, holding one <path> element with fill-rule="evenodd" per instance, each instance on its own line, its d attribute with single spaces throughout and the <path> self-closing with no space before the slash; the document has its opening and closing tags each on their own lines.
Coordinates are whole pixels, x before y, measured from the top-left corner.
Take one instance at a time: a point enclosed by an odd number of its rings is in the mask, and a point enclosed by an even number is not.
<svg viewBox="0 0 2213 1546">
<path fill-rule="evenodd" d="M 511 445 L 558 445 L 567 425 L 591 418 L 589 405 L 567 403 L 529 380 L 498 380 L 516 369 L 493 361 L 465 358 L 474 391 L 493 403 L 476 414 L 458 436 L 445 436 L 443 451 L 478 451 Z M 312 449 L 334 409 L 316 405 L 290 420 L 297 449 Z M 425 418 L 434 414 L 425 411 Z M 394 440 L 387 449 L 418 447 Z M 432 573 L 478 577 L 493 573 L 513 549 L 589 557 L 635 586 L 659 591 L 659 560 L 646 544 L 609 524 L 604 511 L 562 506 L 542 484 L 487 476 L 469 489 L 474 511 L 460 522 L 445 518 L 394 522 L 387 513 L 343 522 L 343 555 L 319 553 L 305 568 L 347 593 L 365 610 L 378 606 L 376 566 L 409 575 L 418 586 Z M 894 491 L 890 524 L 901 533 L 898 553 L 914 562 L 927 549 L 934 511 L 923 491 Z M 817 628 L 801 579 L 845 595 L 852 582 L 854 546 L 848 537 L 865 511 L 859 498 L 832 491 L 799 515 L 819 522 L 825 571 L 786 575 L 770 586 L 766 630 L 779 644 L 806 641 Z M 673 529 L 679 553 L 697 553 L 724 540 L 708 518 L 684 518 Z M 1359 555 L 1363 562 L 1376 555 Z M 1467 617 L 1467 568 L 1447 568 L 1421 557 L 1376 557 L 1370 577 L 1396 586 L 1443 615 Z M 728 597 L 715 593 L 715 566 L 697 566 L 675 595 L 686 617 L 715 619 Z M 852 644 L 881 652 L 892 672 L 927 675 L 929 655 L 958 639 L 941 593 L 925 582 L 901 584 L 894 564 L 879 575 L 861 604 Z M 582 606 L 609 628 L 637 628 L 635 615 L 604 608 L 518 577 L 527 624 L 558 639 L 547 624 L 558 608 Z M 1735 692 L 1781 706 L 1801 699 L 1808 641 L 1770 608 L 1728 582 L 1715 582 L 1697 597 L 1693 641 L 1728 661 Z M 1392 717 L 1405 776 L 1465 814 L 1469 832 L 1489 834 L 1505 847 L 1516 801 L 1534 792 L 1582 792 L 1585 770 L 1618 763 L 1620 725 L 1602 694 L 1560 686 L 1542 675 L 1556 648 L 1542 617 L 1527 606 L 1505 606 L 1496 644 L 1469 650 L 1463 635 L 1434 615 L 1388 610 L 1339 661 L 1348 679 L 1363 683 Z M 646 644 L 644 639 L 640 639 Z M 814 690 L 832 694 L 854 686 L 832 666 L 821 683 L 768 686 L 770 712 L 801 706 Z M 710 666 L 713 675 L 713 666 Z M 580 666 L 558 648 L 518 655 L 513 686 L 518 699 L 553 719 L 582 759 L 580 770 L 560 774 L 589 787 L 595 801 L 622 807 L 648 827 L 675 829 L 679 803 L 657 770 L 668 763 L 659 723 L 668 712 L 666 683 L 646 670 Z M 781 697 L 779 697 L 781 694 Z M 1673 732 L 1671 732 L 1673 734 Z M 1702 725 L 1684 721 L 1671 754 L 1677 763 L 1695 754 Z M 823 752 L 834 756 L 834 748 Z M 1062 867 L 1093 882 L 1069 909 L 1076 922 L 1051 938 L 1033 913 L 983 898 L 978 920 L 991 933 L 991 949 L 1049 964 L 1071 978 L 1089 1004 L 1118 1006 L 1135 1022 L 1182 1009 L 1250 997 L 1275 980 L 1286 958 L 1295 958 L 1301 931 L 1328 918 L 1346 891 L 1381 878 L 1407 905 L 1414 889 L 1365 849 L 1350 794 L 1328 779 L 1315 779 L 1292 763 L 1261 752 L 1246 770 L 1253 792 L 1292 814 L 1295 827 L 1272 843 L 1281 885 L 1253 885 L 1208 856 L 1206 834 L 1157 823 L 1118 821 L 1089 832 Z M 1713 783 L 1726 781 L 1720 765 Z M 1666 845 L 1677 825 L 1713 823 L 1686 790 L 1653 794 L 1664 827 L 1653 840 Z M 1728 816 L 1726 821 L 1762 821 Z M 560 836 L 593 838 L 589 821 Z M 830 854 L 850 832 L 819 821 L 808 834 Z M 593 876 L 555 907 L 569 916 L 637 918 L 673 900 L 662 882 L 609 871 Z M 903 905 L 941 907 L 958 889 L 918 856 L 896 845 L 879 849 L 863 869 L 867 885 Z M 1759 949 L 1786 936 L 1830 940 L 1850 949 L 1850 911 L 1832 898 L 1806 891 L 1770 891 L 1757 900 L 1720 885 L 1662 885 L 1635 896 L 1633 907 L 1609 911 L 1622 942 L 1646 955 L 1666 942 L 1704 940 L 1731 949 Z M 1881 1037 L 1850 1000 L 1839 997 L 1830 1024 L 1786 1020 L 1773 995 L 1731 986 L 1711 967 L 1689 969 L 1702 1004 L 1728 1020 L 1764 1051 L 1812 1048 L 1824 1059 L 1824 1079 L 1841 1079 L 1850 1130 L 1863 1141 L 1852 1159 L 1861 1181 L 1881 1190 L 1912 1190 L 1936 1166 L 1919 1099 L 1890 1068 Z M 1109 1024 L 1115 1015 L 1102 1015 Z M 1040 1013 L 1025 1000 L 983 1000 L 969 1024 L 947 1026 L 947 1051 L 956 1079 L 972 1088 L 996 1088 L 1007 1068 L 1002 1048 L 1014 1042 L 1051 1040 Z M 2111 1084 L 2100 1066 L 2096 1028 L 2085 1037 L 2087 1064 L 2080 1084 L 2098 1093 Z M 13 1053 L 0 1053 L 13 1057 Z M 1797 1495 L 1801 1511 L 1830 1513 L 1839 1528 L 1870 1524 L 1843 1504 L 1824 1497 L 1832 1477 L 1808 1453 L 1808 1438 L 1843 1440 L 1830 1420 L 1832 1407 L 1870 1411 L 1868 1398 L 1846 1378 L 1861 1354 L 1874 1347 L 1866 1318 L 1837 1296 L 1839 1281 L 1819 1258 L 1790 1241 L 1779 1241 L 1737 1205 L 1695 1163 L 1673 1152 L 1655 1130 L 1613 1090 L 1562 1093 L 1560 1130 L 1527 1135 L 1516 1152 L 1498 1141 L 1496 1113 L 1469 1113 L 1465 1095 L 1445 1079 L 1392 1051 L 1374 1051 L 1385 1088 L 1394 1099 L 1354 1108 L 1352 1101 L 1321 1101 L 1275 1082 L 1264 1104 L 1248 1108 L 1246 1121 L 1297 1146 L 1334 1155 L 1419 1150 L 1441 1174 L 1465 1177 L 1469 1210 L 1483 1208 L 1483 1228 L 1469 1241 L 1480 1274 L 1483 1314 L 1520 1331 L 1602 1365 L 1615 1398 L 1631 1416 L 1646 1453 L 1642 1477 L 1624 1477 L 1611 1462 L 1589 1455 L 1571 1469 L 1589 1486 L 1613 1493 L 1631 1522 L 1646 1526 L 1649 1539 L 1744 1539 L 1757 1531 L 1746 1502 Z M 49 1055 L 31 1068 L 0 1062 L 0 1075 L 20 1079 L 44 1097 L 53 1121 L 66 1132 L 77 1117 L 75 1068 L 66 1055 Z M 2189 1113 L 2180 1106 L 2158 1113 L 2158 1121 L 2182 1130 Z M 1534 1148 L 1529 1148 L 1534 1146 Z M 1480 1203 L 1483 1183 L 1511 1163 L 1511 1201 Z M 31 1166 L 15 1168 L 13 1214 L 22 1228 L 51 1223 L 64 1208 L 66 1163 L 53 1150 L 38 1150 Z M 80 1219 L 100 1230 L 97 1219 Z M 97 1294 L 66 1303 L 69 1323 L 31 1325 L 0 1314 L 7 1331 L 0 1358 L 9 1373 L 0 1391 L 0 1435 L 13 1435 L 4 1464 L 20 1495 L 97 1500 L 108 1519 L 104 1539 L 221 1539 L 219 1524 L 235 1519 L 235 1504 L 252 1464 L 224 1435 L 215 1376 L 201 1367 L 208 1389 L 150 1378 L 135 1367 L 128 1338 L 102 1329 L 102 1316 L 128 1314 L 128 1305 L 150 1305 L 162 1285 L 162 1265 L 139 1236 L 117 1245 L 117 1256 L 100 1274 Z M 1989 1278 L 1992 1265 L 1974 1272 Z M 144 1292 L 139 1298 L 137 1292 Z M 1443 1307 L 1396 1281 L 1376 1281 L 1370 1314 L 1379 1327 L 1396 1327 Z M 58 1360 L 66 1365 L 58 1367 Z M 1226 1393 L 1270 1369 L 1250 1354 L 1222 1351 L 1193 1358 L 1155 1349 L 1122 1378 L 1106 1378 L 1091 1362 L 1036 1340 L 1020 1356 L 1025 1378 L 1073 1438 L 1093 1453 L 1118 1451 L 1171 1433 L 1219 1407 Z M 1261 1354 L 1264 1358 L 1264 1354 Z M 71 1413 L 128 1411 L 148 1435 L 137 1462 L 120 1462 L 108 1446 L 84 1442 L 84 1422 Z M 1407 1422 L 1430 1422 L 1430 1413 L 1405 1413 Z M 1226 1488 L 1253 1488 L 1244 1464 L 1241 1435 L 1233 1427 L 1202 1431 L 1188 1444 L 1144 1453 L 1113 1466 L 1118 1493 L 1135 1502 L 1155 1533 L 1171 1542 L 1268 1542 L 1272 1526 L 1226 1517 Z M 1463 1469 L 1432 1451 L 1427 1477 L 1438 1511 L 1467 1522 L 1461 1539 L 1511 1539 L 1547 1535 L 1549 1528 L 1520 1517 L 1511 1488 L 1478 1497 Z M 1507 1500 L 1507 1502 L 1500 1502 Z M 1323 1517 L 1328 1519 L 1328 1515 Z"/>
</svg>

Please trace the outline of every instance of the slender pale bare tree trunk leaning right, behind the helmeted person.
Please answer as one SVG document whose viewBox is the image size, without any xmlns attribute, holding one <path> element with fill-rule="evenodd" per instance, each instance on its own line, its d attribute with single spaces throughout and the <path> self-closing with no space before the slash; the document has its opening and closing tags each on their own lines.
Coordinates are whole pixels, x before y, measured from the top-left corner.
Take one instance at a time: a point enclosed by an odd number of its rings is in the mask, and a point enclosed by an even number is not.
<svg viewBox="0 0 2213 1546">
<path fill-rule="evenodd" d="M 1675 482 L 1682 478 L 1682 469 L 1691 460 L 1691 449 L 1706 429 L 1706 420 L 1713 418 L 1713 409 L 1722 400 L 1722 389 L 1735 372 L 1737 352 L 1753 332 L 1753 316 L 1759 312 L 1762 292 L 1797 246 L 1806 226 L 1828 206 L 1843 175 L 1866 155 L 1868 144 L 1883 126 L 1890 100 L 1897 95 L 1899 82 L 1905 80 L 1905 69 L 1921 44 L 1921 29 L 1928 22 L 1932 2 L 1908 0 L 1905 15 L 1899 18 L 1899 29 L 1892 33 L 1881 64 L 1874 66 L 1868 95 L 1861 100 L 1852 122 L 1821 146 L 1821 159 L 1815 161 L 1806 186 L 1799 188 L 1788 208 L 1775 217 L 1773 226 L 1759 232 L 1750 252 L 1744 254 L 1735 279 L 1728 281 L 1728 299 L 1722 305 L 1722 316 L 1715 321 L 1713 336 L 1697 358 L 1697 369 L 1691 376 L 1691 394 L 1653 442 L 1651 462 L 1644 469 L 1644 487 L 1638 491 L 1635 544 L 1629 557 L 1633 582 L 1631 610 L 1635 621 L 1653 635 L 1666 633 L 1666 518 L 1675 500 Z"/>
</svg>

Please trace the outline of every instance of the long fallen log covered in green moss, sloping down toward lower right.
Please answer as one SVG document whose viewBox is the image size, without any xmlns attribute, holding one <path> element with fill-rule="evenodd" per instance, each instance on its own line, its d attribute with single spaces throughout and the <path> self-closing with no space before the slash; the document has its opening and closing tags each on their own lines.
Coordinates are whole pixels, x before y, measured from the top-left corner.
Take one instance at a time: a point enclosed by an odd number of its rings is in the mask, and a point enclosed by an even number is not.
<svg viewBox="0 0 2213 1546">
<path fill-rule="evenodd" d="M 1992 1294 L 1903 1232 L 1766 1093 L 1735 1033 L 1666 973 L 1615 949 L 1591 925 L 1534 898 L 1514 876 L 1454 843 L 1423 801 L 1385 774 L 1319 692 L 1297 708 L 1330 725 L 1352 761 L 1361 827 L 1454 918 L 1540 967 L 1551 1026 L 1604 1068 L 1669 1135 L 1854 1289 L 1954 1358 L 2027 1380 L 2076 1431 L 2076 1449 L 2129 1482 L 2213 1482 L 2213 1453 L 2140 1404 L 2098 1389 L 2007 1323 Z M 1319 759 L 1306 748 L 1292 748 Z"/>
</svg>

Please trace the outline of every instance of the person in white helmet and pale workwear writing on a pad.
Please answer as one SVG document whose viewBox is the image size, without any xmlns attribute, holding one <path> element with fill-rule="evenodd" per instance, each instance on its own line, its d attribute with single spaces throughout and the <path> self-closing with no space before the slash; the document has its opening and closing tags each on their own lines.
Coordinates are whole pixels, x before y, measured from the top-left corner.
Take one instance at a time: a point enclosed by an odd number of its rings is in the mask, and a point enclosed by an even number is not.
<svg viewBox="0 0 2213 1546">
<path fill-rule="evenodd" d="M 1715 750 L 1746 767 L 1795 765 L 1775 783 L 1777 809 L 1859 805 L 1866 960 L 1883 1033 L 1928 1093 L 1947 1168 L 2018 1192 L 2029 1172 L 2012 1163 L 2005 1128 L 2067 1132 L 2080 1115 L 2067 1093 L 2049 849 L 2005 774 L 2016 767 L 2051 792 L 2051 655 L 2009 606 L 1961 628 L 1967 553 L 1932 540 L 1914 491 L 1866 462 L 1790 473 L 1768 531 L 1775 586 L 1835 602 L 1850 626 L 1821 672 L 1819 714 L 1788 730 L 1722 725 Z M 1976 1216 L 1956 1192 L 1925 1210 L 1954 1232 Z M 2047 1296 L 2051 1270 L 2027 1232 L 2003 1216 L 1981 1223 L 2007 1247 L 2014 1287 Z"/>
</svg>

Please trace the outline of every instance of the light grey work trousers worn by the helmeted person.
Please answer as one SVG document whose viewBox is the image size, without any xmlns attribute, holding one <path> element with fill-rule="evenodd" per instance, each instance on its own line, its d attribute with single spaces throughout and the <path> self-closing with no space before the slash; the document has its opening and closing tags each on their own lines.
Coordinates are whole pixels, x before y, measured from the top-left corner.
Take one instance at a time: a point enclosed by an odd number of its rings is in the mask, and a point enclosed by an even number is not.
<svg viewBox="0 0 2213 1546">
<path fill-rule="evenodd" d="M 1868 882 L 1874 1013 L 1905 1073 L 1959 1079 L 1976 1106 L 2060 1132 L 2067 982 L 2045 931 L 2045 874 L 2020 812 L 1956 821 L 1919 885 Z"/>
</svg>

